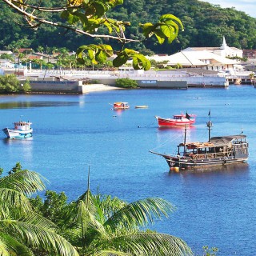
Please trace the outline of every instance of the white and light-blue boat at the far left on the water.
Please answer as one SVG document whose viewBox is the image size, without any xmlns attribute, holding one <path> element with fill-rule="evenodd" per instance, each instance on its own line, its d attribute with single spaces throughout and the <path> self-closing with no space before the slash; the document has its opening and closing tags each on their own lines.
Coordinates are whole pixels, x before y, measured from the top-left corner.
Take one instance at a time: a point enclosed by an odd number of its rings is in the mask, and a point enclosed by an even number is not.
<svg viewBox="0 0 256 256">
<path fill-rule="evenodd" d="M 2 129 L 3 132 L 6 134 L 7 138 L 30 138 L 32 137 L 33 129 L 30 127 L 32 125 L 32 122 L 14 122 L 14 128 L 5 128 Z"/>
</svg>

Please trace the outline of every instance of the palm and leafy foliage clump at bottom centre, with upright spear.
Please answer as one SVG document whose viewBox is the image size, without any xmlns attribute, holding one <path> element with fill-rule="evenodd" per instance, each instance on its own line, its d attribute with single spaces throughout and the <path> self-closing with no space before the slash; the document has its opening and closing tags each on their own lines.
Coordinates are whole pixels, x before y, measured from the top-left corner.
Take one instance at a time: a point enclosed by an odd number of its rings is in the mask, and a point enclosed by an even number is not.
<svg viewBox="0 0 256 256">
<path fill-rule="evenodd" d="M 88 182 L 89 184 L 89 182 Z M 46 199 L 31 199 L 38 213 L 55 222 L 80 255 L 192 255 L 186 242 L 169 234 L 145 230 L 156 218 L 174 210 L 161 198 L 126 203 L 118 198 L 92 194 L 90 186 L 78 200 L 46 191 Z"/>
</svg>

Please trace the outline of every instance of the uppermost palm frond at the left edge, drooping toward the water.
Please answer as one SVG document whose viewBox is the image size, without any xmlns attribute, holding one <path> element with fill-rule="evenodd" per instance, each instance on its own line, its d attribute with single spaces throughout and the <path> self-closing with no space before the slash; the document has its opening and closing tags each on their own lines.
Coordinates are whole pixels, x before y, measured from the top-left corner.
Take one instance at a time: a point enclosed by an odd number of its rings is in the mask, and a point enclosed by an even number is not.
<svg viewBox="0 0 256 256">
<path fill-rule="evenodd" d="M 18 190 L 23 194 L 30 195 L 34 192 L 45 190 L 44 182 L 46 181 L 46 178 L 34 171 L 22 170 L 3 177 L 0 180 L 0 187 Z"/>
</svg>

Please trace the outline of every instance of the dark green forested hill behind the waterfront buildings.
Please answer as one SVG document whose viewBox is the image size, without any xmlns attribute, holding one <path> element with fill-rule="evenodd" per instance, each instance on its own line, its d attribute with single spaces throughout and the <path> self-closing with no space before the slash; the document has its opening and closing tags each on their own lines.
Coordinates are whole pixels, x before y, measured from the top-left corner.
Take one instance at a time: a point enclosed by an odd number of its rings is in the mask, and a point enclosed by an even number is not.
<svg viewBox="0 0 256 256">
<path fill-rule="evenodd" d="M 58 0 L 46 0 L 46 6 L 54 6 Z M 30 30 L 19 26 L 14 21 L 18 18 L 6 5 L 0 2 L 0 49 L 17 47 L 66 47 L 76 50 L 82 44 L 93 42 L 91 38 L 74 34 L 50 26 L 41 26 Z M 172 54 L 188 46 L 221 46 L 225 36 L 229 46 L 240 49 L 256 49 L 256 18 L 251 18 L 242 11 L 232 8 L 222 9 L 198 0 L 125 0 L 116 7 L 110 16 L 118 20 L 130 21 L 126 31 L 130 38 L 142 38 L 138 23 L 156 22 L 162 14 L 174 14 L 182 20 L 185 27 L 172 44 L 159 46 L 154 38 L 134 44 L 137 50 L 150 49 L 155 53 Z M 54 21 L 58 17 L 53 17 Z M 101 42 L 102 39 L 95 39 Z"/>
</svg>

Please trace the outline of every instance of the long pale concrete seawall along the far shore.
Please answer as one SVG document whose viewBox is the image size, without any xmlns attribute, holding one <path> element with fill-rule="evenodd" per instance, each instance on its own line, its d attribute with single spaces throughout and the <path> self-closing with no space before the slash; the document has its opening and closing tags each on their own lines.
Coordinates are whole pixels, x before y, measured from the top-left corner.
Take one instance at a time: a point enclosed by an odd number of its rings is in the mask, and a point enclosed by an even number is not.
<svg viewBox="0 0 256 256">
<path fill-rule="evenodd" d="M 187 89 L 188 87 L 226 87 L 229 82 L 225 77 L 218 76 L 194 76 L 181 74 L 158 74 L 158 73 L 113 73 L 102 71 L 84 70 L 81 74 L 66 74 L 57 77 L 49 73 L 42 77 L 30 74 L 31 76 L 20 78 L 21 83 L 27 78 L 30 79 L 30 86 L 33 92 L 38 93 L 66 93 L 66 94 L 85 94 L 88 92 L 90 83 L 106 86 L 115 86 L 116 79 L 130 78 L 138 82 L 140 88 L 164 88 L 164 89 Z M 51 75 L 51 76 L 50 76 Z M 90 90 L 91 91 L 91 90 Z"/>
</svg>

